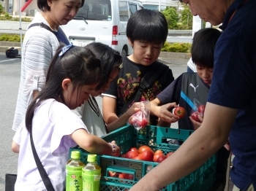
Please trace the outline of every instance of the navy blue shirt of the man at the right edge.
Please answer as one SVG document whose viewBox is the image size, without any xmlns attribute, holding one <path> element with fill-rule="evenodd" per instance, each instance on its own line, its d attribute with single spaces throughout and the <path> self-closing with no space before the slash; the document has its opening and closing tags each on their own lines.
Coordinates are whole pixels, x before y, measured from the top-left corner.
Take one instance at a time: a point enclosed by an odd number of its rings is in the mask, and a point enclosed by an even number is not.
<svg viewBox="0 0 256 191">
<path fill-rule="evenodd" d="M 256 1 L 234 1 L 222 30 L 208 102 L 239 109 L 229 137 L 236 156 L 230 176 L 241 190 L 256 189 Z"/>
</svg>

